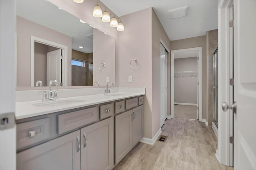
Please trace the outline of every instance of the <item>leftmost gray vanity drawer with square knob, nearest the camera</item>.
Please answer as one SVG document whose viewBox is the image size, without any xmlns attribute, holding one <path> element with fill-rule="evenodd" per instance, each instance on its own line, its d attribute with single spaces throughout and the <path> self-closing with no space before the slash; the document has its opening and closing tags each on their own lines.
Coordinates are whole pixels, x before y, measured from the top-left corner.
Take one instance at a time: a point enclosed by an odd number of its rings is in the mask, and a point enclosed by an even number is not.
<svg viewBox="0 0 256 170">
<path fill-rule="evenodd" d="M 46 140 L 50 137 L 50 119 L 44 118 L 17 125 L 17 149 Z"/>
</svg>

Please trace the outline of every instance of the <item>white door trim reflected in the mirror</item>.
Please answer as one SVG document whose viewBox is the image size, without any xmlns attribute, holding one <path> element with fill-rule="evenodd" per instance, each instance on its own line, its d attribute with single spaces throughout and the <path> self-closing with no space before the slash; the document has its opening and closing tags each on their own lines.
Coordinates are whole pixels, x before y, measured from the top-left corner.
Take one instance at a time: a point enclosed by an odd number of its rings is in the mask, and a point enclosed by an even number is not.
<svg viewBox="0 0 256 170">
<path fill-rule="evenodd" d="M 68 46 L 58 44 L 46 39 L 35 37 L 31 35 L 30 37 L 30 86 L 34 87 L 34 73 L 35 73 L 35 42 L 49 45 L 62 49 L 62 83 L 63 86 L 68 86 Z"/>
</svg>

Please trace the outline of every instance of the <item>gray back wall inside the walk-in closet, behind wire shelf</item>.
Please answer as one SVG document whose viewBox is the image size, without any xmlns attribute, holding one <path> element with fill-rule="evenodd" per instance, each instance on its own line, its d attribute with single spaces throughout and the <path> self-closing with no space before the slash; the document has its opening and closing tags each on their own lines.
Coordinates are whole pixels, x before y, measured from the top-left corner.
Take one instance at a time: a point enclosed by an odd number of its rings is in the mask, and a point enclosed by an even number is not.
<svg viewBox="0 0 256 170">
<path fill-rule="evenodd" d="M 197 70 L 197 57 L 174 59 L 174 72 L 195 70 Z M 197 77 L 174 78 L 174 103 L 197 104 Z"/>
</svg>

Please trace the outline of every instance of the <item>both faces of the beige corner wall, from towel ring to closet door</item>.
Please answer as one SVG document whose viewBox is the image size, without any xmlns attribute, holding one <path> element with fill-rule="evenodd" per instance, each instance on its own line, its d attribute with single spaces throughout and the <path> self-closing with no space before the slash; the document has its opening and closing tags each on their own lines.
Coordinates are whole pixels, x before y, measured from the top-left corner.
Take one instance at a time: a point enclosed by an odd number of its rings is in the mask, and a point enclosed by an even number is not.
<svg viewBox="0 0 256 170">
<path fill-rule="evenodd" d="M 121 17 L 125 31 L 119 33 L 119 86 L 145 87 L 144 137 L 152 139 L 160 129 L 160 40 L 170 40 L 152 8 Z M 143 26 L 139 26 L 143 25 Z M 170 54 L 168 54 L 170 57 Z M 138 59 L 136 68 L 130 67 Z M 128 83 L 128 76 L 133 76 Z"/>
</svg>

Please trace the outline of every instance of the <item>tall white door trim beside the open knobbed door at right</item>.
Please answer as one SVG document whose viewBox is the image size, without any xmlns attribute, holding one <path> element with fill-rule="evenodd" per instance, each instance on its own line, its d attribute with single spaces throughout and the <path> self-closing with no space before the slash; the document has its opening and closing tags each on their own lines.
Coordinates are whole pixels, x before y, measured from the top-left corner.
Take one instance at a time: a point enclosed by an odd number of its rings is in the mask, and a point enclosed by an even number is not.
<svg viewBox="0 0 256 170">
<path fill-rule="evenodd" d="M 223 102 L 230 103 L 230 68 L 229 68 L 229 7 L 233 0 L 220 0 L 218 2 L 218 106 Z M 233 101 L 232 101 L 233 102 Z M 226 166 L 230 164 L 230 113 L 218 107 L 218 148 L 217 160 Z M 233 159 L 233 158 L 232 158 Z"/>
</svg>

